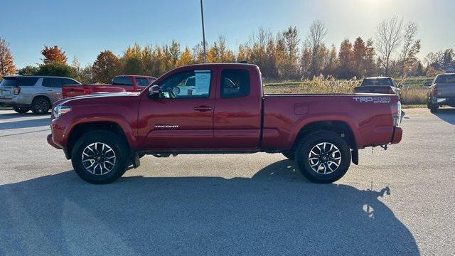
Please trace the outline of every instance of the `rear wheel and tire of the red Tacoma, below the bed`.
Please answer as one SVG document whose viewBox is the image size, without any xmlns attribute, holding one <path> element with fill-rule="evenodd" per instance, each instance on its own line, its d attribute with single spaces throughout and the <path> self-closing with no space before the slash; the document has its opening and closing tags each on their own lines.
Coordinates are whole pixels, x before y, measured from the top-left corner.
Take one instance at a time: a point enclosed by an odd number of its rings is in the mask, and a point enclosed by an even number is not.
<svg viewBox="0 0 455 256">
<path fill-rule="evenodd" d="M 314 183 L 338 181 L 348 171 L 351 157 L 348 143 L 328 131 L 312 132 L 301 139 L 295 156 L 301 174 Z"/>
</svg>

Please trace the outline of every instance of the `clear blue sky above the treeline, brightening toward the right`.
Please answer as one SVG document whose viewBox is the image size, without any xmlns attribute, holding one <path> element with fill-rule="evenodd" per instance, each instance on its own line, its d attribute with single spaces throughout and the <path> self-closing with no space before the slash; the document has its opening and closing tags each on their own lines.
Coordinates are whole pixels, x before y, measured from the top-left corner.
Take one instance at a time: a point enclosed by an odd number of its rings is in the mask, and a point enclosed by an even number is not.
<svg viewBox="0 0 455 256">
<path fill-rule="evenodd" d="M 134 42 L 162 45 L 172 39 L 193 47 L 202 41 L 200 0 L 1 0 L 0 36 L 9 42 L 18 68 L 41 63 L 43 46 L 59 46 L 82 66 L 102 50 L 117 55 Z M 259 27 L 276 34 L 296 26 L 301 41 L 312 21 L 328 30 L 324 43 L 375 37 L 391 16 L 417 23 L 419 58 L 455 48 L 455 0 L 203 0 L 205 38 L 223 35 L 233 50 Z"/>
</svg>

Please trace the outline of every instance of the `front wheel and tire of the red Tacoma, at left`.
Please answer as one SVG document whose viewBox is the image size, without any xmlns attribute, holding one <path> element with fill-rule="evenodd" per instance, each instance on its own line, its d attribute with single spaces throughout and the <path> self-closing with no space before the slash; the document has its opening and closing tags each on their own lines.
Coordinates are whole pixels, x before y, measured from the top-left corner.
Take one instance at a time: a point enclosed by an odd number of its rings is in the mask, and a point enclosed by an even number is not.
<svg viewBox="0 0 455 256">
<path fill-rule="evenodd" d="M 84 181 L 93 184 L 112 183 L 127 171 L 129 165 L 127 142 L 113 132 L 87 132 L 75 143 L 71 162 L 76 174 Z"/>
</svg>

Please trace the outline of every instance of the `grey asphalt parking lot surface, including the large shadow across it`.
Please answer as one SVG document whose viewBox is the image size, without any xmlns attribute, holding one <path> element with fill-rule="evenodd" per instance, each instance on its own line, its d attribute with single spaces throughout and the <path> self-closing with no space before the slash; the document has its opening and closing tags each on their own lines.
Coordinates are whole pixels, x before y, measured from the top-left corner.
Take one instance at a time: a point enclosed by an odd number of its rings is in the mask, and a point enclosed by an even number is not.
<svg viewBox="0 0 455 256">
<path fill-rule="evenodd" d="M 0 111 L 0 255 L 453 255 L 455 110 L 405 110 L 404 137 L 334 184 L 281 154 L 145 156 L 109 185 Z"/>
</svg>

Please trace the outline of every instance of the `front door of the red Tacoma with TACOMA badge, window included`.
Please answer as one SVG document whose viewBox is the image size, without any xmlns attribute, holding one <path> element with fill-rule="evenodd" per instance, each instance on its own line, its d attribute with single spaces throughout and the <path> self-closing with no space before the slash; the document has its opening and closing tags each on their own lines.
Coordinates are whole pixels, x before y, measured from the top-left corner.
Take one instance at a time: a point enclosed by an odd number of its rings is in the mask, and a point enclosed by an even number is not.
<svg viewBox="0 0 455 256">
<path fill-rule="evenodd" d="M 212 77 L 211 70 L 186 70 L 159 82 L 159 98 L 142 94 L 137 124 L 142 149 L 213 148 Z M 195 86 L 187 87 L 188 80 L 195 80 Z"/>
</svg>

